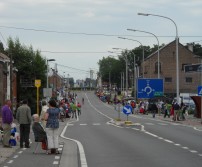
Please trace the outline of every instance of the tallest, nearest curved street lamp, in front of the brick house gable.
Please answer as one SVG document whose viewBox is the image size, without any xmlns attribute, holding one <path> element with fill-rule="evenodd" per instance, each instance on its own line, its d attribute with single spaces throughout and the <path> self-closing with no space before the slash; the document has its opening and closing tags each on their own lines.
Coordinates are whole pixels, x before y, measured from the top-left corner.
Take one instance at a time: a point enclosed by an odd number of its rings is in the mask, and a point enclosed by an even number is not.
<svg viewBox="0 0 202 167">
<path fill-rule="evenodd" d="M 178 37 L 177 24 L 174 22 L 174 20 L 172 20 L 171 18 L 166 17 L 166 16 L 149 14 L 149 13 L 138 13 L 138 15 L 162 17 L 162 18 L 165 18 L 165 19 L 172 21 L 173 24 L 175 25 L 175 30 L 176 30 L 176 94 L 177 94 L 176 96 L 177 96 L 177 102 L 179 103 L 179 99 L 180 99 L 180 93 L 179 93 L 179 52 L 178 52 L 179 37 Z"/>
</svg>

